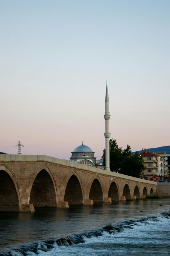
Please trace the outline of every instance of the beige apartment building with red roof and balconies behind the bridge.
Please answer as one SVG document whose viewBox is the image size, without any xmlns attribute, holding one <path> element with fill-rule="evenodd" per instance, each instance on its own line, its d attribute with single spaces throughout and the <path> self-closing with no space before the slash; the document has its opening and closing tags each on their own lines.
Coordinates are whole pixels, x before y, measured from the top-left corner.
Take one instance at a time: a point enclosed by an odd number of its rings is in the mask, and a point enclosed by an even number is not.
<svg viewBox="0 0 170 256">
<path fill-rule="evenodd" d="M 165 159 L 163 156 L 150 152 L 149 149 L 142 150 L 139 154 L 143 157 L 146 169 L 141 176 L 143 179 L 159 181 L 163 180 Z"/>
</svg>

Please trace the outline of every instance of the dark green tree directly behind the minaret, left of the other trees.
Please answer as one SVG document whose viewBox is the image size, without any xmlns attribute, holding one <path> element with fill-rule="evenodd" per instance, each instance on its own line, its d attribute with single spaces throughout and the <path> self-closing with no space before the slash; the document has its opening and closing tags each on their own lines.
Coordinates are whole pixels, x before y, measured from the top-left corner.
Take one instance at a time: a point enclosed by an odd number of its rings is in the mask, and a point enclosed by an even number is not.
<svg viewBox="0 0 170 256">
<path fill-rule="evenodd" d="M 116 140 L 110 139 L 110 171 L 118 171 L 121 167 L 122 161 L 122 148 L 118 146 Z M 105 156 L 106 149 L 103 150 L 103 155 Z M 104 157 L 104 164 L 105 164 L 105 157 Z"/>
</svg>

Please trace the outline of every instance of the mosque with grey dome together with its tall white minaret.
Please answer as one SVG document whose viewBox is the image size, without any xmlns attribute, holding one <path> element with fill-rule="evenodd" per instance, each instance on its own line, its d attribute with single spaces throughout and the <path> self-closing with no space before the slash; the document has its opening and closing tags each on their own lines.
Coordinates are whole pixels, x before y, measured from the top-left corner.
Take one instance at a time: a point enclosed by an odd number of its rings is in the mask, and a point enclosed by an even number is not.
<svg viewBox="0 0 170 256">
<path fill-rule="evenodd" d="M 76 162 L 92 167 L 97 167 L 100 169 L 106 169 L 110 170 L 110 161 L 109 161 L 109 138 L 110 138 L 110 132 L 109 132 L 109 119 L 110 119 L 110 112 L 109 112 L 109 97 L 108 97 L 108 89 L 107 89 L 107 82 L 106 82 L 106 98 L 105 98 L 105 124 L 106 124 L 106 132 L 104 133 L 106 138 L 106 167 L 103 163 L 104 156 L 102 156 L 102 159 L 96 160 L 96 157 L 94 157 L 94 152 L 89 146 L 86 145 L 80 145 L 76 147 L 73 152 L 71 152 L 70 161 Z"/>
</svg>

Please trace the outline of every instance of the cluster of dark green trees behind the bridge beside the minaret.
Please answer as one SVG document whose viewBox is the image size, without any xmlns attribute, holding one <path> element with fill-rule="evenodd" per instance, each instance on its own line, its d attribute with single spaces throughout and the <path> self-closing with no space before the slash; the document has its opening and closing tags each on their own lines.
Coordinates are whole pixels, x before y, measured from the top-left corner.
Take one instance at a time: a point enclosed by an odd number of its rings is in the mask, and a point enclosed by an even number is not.
<svg viewBox="0 0 170 256">
<path fill-rule="evenodd" d="M 103 155 L 105 154 L 106 149 L 103 150 Z M 129 145 L 122 149 L 116 140 L 110 139 L 110 171 L 139 178 L 144 170 L 143 157 L 139 156 L 138 152 L 132 155 Z"/>
</svg>

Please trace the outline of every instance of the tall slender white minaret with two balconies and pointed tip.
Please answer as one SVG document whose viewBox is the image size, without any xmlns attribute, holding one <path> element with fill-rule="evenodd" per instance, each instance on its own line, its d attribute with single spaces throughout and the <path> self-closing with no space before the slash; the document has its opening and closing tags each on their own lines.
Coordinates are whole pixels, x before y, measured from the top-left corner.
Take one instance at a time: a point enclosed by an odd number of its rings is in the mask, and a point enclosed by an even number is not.
<svg viewBox="0 0 170 256">
<path fill-rule="evenodd" d="M 109 132 L 109 119 L 110 119 L 110 112 L 109 112 L 109 97 L 108 97 L 108 88 L 107 88 L 107 81 L 106 81 L 106 98 L 105 98 L 105 130 L 104 133 L 106 138 L 106 168 L 105 170 L 110 171 L 110 146 L 109 146 L 109 138 L 110 138 L 110 132 Z"/>
</svg>

